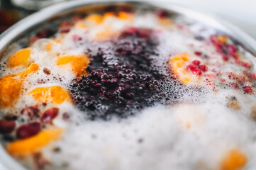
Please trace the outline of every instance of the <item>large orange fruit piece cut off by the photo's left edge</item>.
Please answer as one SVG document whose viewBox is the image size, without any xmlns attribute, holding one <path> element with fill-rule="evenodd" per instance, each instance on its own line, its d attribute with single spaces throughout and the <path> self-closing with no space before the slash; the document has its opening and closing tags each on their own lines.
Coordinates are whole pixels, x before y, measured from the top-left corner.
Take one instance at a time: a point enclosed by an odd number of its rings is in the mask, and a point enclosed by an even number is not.
<svg viewBox="0 0 256 170">
<path fill-rule="evenodd" d="M 21 94 L 23 81 L 15 75 L 8 75 L 0 79 L 0 106 L 6 108 L 12 106 Z"/>
</svg>

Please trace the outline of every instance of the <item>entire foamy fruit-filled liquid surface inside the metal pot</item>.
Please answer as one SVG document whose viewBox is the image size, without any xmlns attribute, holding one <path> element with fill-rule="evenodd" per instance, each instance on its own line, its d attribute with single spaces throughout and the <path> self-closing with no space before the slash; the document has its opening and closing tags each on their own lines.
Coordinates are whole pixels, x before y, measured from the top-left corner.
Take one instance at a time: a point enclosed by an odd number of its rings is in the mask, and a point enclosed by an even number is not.
<svg viewBox="0 0 256 170">
<path fill-rule="evenodd" d="M 255 56 L 167 11 L 74 16 L 1 60 L 0 134 L 29 169 L 246 169 Z"/>
</svg>

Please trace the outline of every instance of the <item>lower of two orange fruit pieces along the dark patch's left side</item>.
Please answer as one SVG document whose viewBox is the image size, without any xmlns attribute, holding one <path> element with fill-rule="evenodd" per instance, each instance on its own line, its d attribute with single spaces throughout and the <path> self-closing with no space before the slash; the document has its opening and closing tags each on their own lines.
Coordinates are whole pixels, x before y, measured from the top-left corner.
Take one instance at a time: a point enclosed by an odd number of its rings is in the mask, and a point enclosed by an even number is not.
<svg viewBox="0 0 256 170">
<path fill-rule="evenodd" d="M 38 87 L 29 92 L 37 101 L 60 104 L 70 101 L 69 92 L 61 86 Z"/>
</svg>

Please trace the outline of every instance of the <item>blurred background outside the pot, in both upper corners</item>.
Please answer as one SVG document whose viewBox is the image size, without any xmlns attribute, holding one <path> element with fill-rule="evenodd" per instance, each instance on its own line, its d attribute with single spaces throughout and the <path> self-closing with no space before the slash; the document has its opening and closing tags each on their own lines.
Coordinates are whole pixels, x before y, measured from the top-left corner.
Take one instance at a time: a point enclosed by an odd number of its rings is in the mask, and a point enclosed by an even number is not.
<svg viewBox="0 0 256 170">
<path fill-rule="evenodd" d="M 0 33 L 30 13 L 67 0 L 0 0 Z M 72 0 L 69 0 L 72 1 Z M 106 0 L 105 0 L 106 1 Z M 151 0 L 154 1 L 154 0 Z M 255 0 L 160 0 L 225 19 L 256 39 Z"/>
</svg>

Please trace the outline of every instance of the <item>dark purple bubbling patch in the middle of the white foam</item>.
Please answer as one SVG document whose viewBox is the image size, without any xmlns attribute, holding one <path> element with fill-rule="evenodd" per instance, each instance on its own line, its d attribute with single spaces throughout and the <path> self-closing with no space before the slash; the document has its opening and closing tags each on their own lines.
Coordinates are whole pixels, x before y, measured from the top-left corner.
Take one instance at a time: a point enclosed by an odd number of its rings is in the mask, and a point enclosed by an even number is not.
<svg viewBox="0 0 256 170">
<path fill-rule="evenodd" d="M 114 52 L 99 49 L 90 56 L 87 74 L 72 81 L 74 104 L 88 113 L 91 120 L 108 120 L 113 115 L 126 118 L 152 106 L 158 86 L 165 77 L 153 69 L 152 55 L 157 41 L 152 30 L 129 28 L 113 40 Z"/>
</svg>

